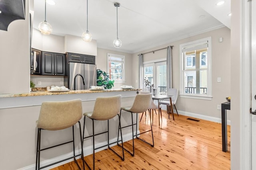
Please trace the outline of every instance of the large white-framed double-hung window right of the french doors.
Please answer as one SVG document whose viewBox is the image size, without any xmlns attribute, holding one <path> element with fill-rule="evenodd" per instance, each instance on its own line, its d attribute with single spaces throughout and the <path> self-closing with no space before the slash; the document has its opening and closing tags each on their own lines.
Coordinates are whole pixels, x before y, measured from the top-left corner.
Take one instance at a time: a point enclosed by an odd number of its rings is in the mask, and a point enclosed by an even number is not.
<svg viewBox="0 0 256 170">
<path fill-rule="evenodd" d="M 204 51 L 201 51 L 201 49 L 205 49 L 205 48 L 207 48 L 207 54 L 206 54 L 206 59 L 205 59 L 206 61 L 205 61 L 205 64 L 202 65 L 202 53 L 201 52 L 204 52 Z M 191 54 L 192 54 L 193 51 L 195 51 L 195 54 L 196 54 L 195 55 L 195 57 L 196 57 L 195 63 L 197 65 L 194 67 L 186 66 L 187 65 L 186 53 L 187 53 L 187 55 L 189 54 L 188 52 L 191 52 Z M 192 63 L 189 63 L 189 65 L 192 65 Z M 197 86 L 201 86 L 201 84 L 203 82 L 204 87 L 202 87 L 202 88 L 204 88 L 204 90 L 207 90 L 207 92 L 206 91 L 201 92 L 202 91 L 201 87 L 197 87 L 197 88 L 200 88 L 200 93 L 198 90 L 197 90 L 198 93 L 196 93 L 196 94 L 185 93 L 185 87 L 187 87 L 186 83 L 188 83 L 188 80 L 185 80 L 184 74 L 185 74 L 185 72 L 188 73 L 190 71 L 197 73 L 196 77 L 194 77 L 194 79 L 195 78 L 198 79 L 197 80 L 198 82 L 196 83 Z M 201 74 L 201 73 L 203 73 L 203 74 Z M 202 75 L 204 78 L 202 78 Z M 188 42 L 188 43 L 184 43 L 184 44 L 180 45 L 180 77 L 182 77 L 182 78 L 180 78 L 180 97 L 212 100 L 211 37 L 199 39 L 196 41 L 192 41 L 192 42 Z M 200 80 L 200 78 L 203 80 Z M 206 86 L 207 86 L 207 89 L 205 89 Z"/>
</svg>

